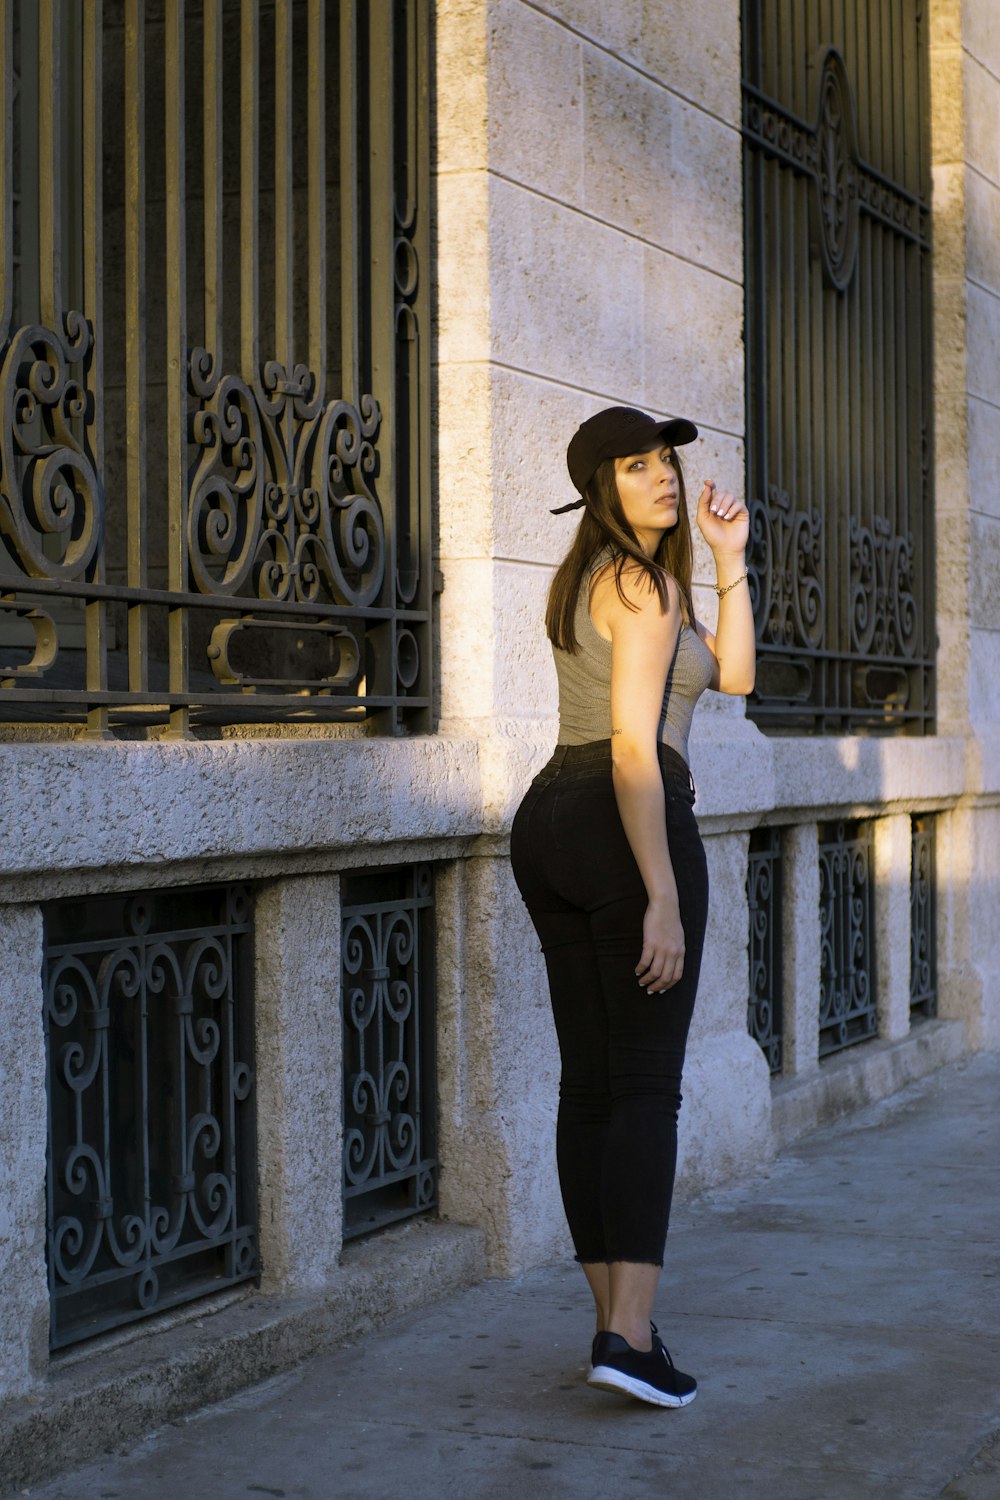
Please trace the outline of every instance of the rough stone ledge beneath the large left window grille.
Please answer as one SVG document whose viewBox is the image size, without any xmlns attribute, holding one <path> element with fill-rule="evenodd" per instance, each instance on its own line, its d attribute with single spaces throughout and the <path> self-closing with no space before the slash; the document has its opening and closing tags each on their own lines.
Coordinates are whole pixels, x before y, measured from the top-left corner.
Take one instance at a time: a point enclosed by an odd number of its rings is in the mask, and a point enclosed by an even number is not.
<svg viewBox="0 0 1000 1500">
<path fill-rule="evenodd" d="M 0 784 L 6 876 L 267 855 L 288 868 L 481 825 L 477 746 L 430 735 L 4 744 Z"/>
</svg>

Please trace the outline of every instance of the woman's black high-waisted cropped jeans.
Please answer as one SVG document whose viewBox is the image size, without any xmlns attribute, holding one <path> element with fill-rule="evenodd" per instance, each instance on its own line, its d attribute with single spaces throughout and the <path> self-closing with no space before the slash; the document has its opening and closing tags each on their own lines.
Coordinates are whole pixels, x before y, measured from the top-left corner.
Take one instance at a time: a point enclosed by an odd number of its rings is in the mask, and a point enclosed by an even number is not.
<svg viewBox="0 0 1000 1500">
<path fill-rule="evenodd" d="M 514 816 L 514 879 L 541 940 L 562 1078 L 556 1158 L 577 1260 L 663 1264 L 681 1071 L 708 915 L 708 870 L 684 759 L 660 746 L 684 975 L 636 978 L 646 888 L 612 786 L 610 740 L 559 746 Z"/>
</svg>

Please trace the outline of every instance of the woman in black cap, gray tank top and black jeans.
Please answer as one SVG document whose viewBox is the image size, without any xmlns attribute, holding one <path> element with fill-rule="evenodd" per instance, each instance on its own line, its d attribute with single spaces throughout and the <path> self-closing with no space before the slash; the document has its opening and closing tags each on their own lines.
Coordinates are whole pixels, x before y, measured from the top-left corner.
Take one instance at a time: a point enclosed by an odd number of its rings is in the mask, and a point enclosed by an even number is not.
<svg viewBox="0 0 1000 1500">
<path fill-rule="evenodd" d="M 747 507 L 705 482 L 718 627 L 691 604 L 676 448 L 697 436 L 610 406 L 567 452 L 583 507 L 549 592 L 559 740 L 514 818 L 514 878 L 549 970 L 562 1077 L 556 1156 L 594 1293 L 589 1383 L 688 1406 L 651 1323 L 676 1166 L 684 1048 L 708 909 L 688 729 L 706 687 L 748 693 L 754 622 Z"/>
</svg>

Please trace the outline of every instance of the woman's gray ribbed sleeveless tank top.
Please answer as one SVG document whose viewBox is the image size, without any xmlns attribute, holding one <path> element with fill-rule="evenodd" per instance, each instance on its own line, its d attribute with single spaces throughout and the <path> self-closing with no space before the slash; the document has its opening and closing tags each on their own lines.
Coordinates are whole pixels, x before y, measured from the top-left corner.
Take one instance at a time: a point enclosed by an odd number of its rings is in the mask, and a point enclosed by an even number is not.
<svg viewBox="0 0 1000 1500">
<path fill-rule="evenodd" d="M 559 678 L 559 738 L 561 746 L 582 746 L 612 736 L 612 644 L 598 634 L 591 620 L 591 578 L 607 562 L 607 554 L 595 558 L 589 578 L 583 579 L 576 604 L 576 654 L 552 648 Z M 688 734 L 694 705 L 712 681 L 712 652 L 697 630 L 681 626 L 673 662 L 663 690 L 660 740 L 688 759 Z"/>
</svg>

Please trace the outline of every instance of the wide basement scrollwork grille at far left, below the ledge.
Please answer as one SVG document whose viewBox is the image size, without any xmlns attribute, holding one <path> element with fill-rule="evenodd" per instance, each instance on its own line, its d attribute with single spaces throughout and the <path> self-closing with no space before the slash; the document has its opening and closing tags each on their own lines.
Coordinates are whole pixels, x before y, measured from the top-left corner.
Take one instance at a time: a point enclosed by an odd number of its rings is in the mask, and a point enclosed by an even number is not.
<svg viewBox="0 0 1000 1500">
<path fill-rule="evenodd" d="M 244 886 L 45 908 L 51 1346 L 258 1272 Z"/>
</svg>

